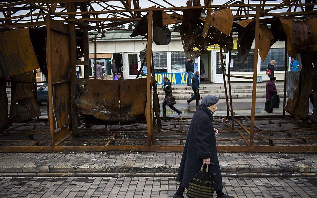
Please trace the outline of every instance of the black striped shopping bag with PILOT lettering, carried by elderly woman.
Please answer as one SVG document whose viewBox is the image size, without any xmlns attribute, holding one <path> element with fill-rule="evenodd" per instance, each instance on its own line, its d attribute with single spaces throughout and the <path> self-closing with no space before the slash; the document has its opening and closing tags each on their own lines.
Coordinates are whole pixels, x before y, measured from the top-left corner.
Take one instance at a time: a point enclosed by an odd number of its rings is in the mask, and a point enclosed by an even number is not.
<svg viewBox="0 0 317 198">
<path fill-rule="evenodd" d="M 207 164 L 206 164 L 207 165 Z M 215 191 L 215 173 L 208 172 L 208 165 L 206 172 L 203 171 L 204 164 L 200 171 L 189 182 L 187 188 L 187 197 L 189 198 L 212 198 Z"/>
</svg>

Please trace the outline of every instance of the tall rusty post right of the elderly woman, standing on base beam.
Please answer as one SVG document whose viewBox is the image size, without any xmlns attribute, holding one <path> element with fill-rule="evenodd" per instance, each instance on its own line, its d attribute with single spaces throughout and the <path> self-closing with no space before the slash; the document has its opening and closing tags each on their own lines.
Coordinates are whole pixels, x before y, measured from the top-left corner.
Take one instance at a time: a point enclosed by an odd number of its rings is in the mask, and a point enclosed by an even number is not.
<svg viewBox="0 0 317 198">
<path fill-rule="evenodd" d="M 254 63 L 253 63 L 250 146 L 253 146 L 254 122 L 255 122 L 255 112 L 256 112 L 256 77 L 257 77 L 257 60 L 258 60 L 258 49 L 259 49 L 260 9 L 261 9 L 260 6 L 256 6 L 256 30 L 255 30 Z"/>
</svg>

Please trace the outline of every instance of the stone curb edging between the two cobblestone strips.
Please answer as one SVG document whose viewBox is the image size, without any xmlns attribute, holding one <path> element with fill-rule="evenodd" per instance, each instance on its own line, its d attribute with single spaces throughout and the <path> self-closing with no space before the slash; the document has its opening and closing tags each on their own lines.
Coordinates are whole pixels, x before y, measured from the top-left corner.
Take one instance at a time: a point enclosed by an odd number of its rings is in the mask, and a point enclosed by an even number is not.
<svg viewBox="0 0 317 198">
<path fill-rule="evenodd" d="M 179 165 L 0 165 L 2 173 L 177 173 Z M 221 165 L 228 173 L 316 173 L 317 165 Z"/>
</svg>

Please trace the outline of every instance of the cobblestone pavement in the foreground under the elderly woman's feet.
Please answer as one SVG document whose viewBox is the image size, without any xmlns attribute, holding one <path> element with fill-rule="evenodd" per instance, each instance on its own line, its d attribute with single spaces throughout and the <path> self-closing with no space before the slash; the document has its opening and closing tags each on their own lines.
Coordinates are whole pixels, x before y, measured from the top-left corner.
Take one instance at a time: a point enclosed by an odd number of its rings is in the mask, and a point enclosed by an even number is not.
<svg viewBox="0 0 317 198">
<path fill-rule="evenodd" d="M 223 178 L 223 186 L 235 198 L 317 198 L 316 178 Z M 177 187 L 173 177 L 2 177 L 0 197 L 170 198 Z"/>
</svg>

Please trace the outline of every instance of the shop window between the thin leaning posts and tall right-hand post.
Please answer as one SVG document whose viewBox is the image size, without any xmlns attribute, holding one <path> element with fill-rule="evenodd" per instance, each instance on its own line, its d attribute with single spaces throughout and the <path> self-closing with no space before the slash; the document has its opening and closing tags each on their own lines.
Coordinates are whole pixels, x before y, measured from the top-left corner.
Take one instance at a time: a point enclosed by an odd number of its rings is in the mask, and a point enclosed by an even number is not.
<svg viewBox="0 0 317 198">
<path fill-rule="evenodd" d="M 253 67 L 254 67 L 254 52 L 252 52 L 252 50 L 249 52 L 244 62 L 241 62 L 241 59 L 238 57 L 238 51 L 232 50 L 231 61 L 230 61 L 231 72 L 253 72 Z"/>
</svg>

